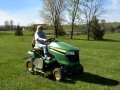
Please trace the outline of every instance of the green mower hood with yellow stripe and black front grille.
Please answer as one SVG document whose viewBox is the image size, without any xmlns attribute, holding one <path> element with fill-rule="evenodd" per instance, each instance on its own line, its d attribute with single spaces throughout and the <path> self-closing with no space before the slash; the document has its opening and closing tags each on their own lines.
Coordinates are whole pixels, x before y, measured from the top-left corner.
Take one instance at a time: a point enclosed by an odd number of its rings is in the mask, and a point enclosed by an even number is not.
<svg viewBox="0 0 120 90">
<path fill-rule="evenodd" d="M 70 44 L 54 41 L 48 45 L 48 52 L 57 62 L 67 67 L 79 65 L 79 49 Z"/>
</svg>

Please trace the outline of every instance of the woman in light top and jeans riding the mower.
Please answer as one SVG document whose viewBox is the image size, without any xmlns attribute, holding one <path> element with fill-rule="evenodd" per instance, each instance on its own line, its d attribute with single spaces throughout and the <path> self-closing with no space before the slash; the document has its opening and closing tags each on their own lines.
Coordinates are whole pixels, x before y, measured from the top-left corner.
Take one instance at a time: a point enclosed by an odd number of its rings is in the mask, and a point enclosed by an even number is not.
<svg viewBox="0 0 120 90">
<path fill-rule="evenodd" d="M 35 32 L 35 47 L 38 48 L 43 48 L 45 59 L 49 59 L 48 57 L 48 51 L 47 51 L 47 44 L 45 42 L 47 41 L 46 39 L 46 34 L 43 32 L 44 28 L 41 25 L 37 26 L 37 30 Z"/>
</svg>

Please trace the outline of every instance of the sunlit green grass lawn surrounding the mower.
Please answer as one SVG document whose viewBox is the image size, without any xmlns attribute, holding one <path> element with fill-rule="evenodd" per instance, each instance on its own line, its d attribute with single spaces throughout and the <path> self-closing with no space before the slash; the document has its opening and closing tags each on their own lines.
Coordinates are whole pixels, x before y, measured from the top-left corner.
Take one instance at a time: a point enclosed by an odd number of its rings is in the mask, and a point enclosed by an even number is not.
<svg viewBox="0 0 120 90">
<path fill-rule="evenodd" d="M 14 36 L 0 32 L 0 90 L 119 90 L 120 34 L 107 34 L 104 41 L 86 40 L 87 36 L 59 37 L 58 40 L 80 49 L 84 74 L 68 76 L 56 82 L 26 71 L 27 51 L 31 49 L 31 33 Z"/>
</svg>

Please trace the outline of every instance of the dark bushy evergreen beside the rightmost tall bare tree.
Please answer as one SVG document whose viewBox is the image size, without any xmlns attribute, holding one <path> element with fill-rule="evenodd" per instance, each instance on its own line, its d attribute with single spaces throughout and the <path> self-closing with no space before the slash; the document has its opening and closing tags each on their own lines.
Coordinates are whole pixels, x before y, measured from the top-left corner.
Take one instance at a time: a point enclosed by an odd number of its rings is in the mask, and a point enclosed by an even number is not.
<svg viewBox="0 0 120 90">
<path fill-rule="evenodd" d="M 98 19 L 96 17 L 93 18 L 91 23 L 91 36 L 95 40 L 102 40 L 104 36 L 104 29 L 101 29 L 100 24 L 98 23 Z"/>
</svg>

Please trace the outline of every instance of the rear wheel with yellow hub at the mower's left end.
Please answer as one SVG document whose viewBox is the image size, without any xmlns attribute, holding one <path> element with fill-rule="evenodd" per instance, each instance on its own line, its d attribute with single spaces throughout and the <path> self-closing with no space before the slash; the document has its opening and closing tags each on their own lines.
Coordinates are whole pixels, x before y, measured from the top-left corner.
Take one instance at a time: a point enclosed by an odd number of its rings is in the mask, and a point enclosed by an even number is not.
<svg viewBox="0 0 120 90">
<path fill-rule="evenodd" d="M 34 58 L 29 58 L 26 62 L 26 69 L 29 71 L 31 74 L 35 74 L 34 71 L 34 65 L 33 65 Z"/>
</svg>

